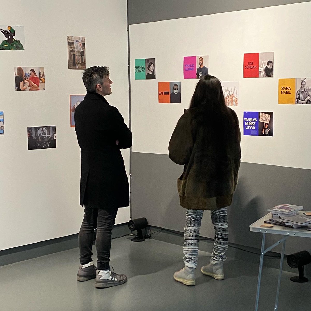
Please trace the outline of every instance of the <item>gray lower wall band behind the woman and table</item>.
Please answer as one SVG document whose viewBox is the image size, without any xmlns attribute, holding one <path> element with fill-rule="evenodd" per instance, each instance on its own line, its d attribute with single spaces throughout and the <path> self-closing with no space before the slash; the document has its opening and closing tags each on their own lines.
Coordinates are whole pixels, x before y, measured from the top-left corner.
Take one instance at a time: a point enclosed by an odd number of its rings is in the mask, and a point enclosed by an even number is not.
<svg viewBox="0 0 311 311">
<path fill-rule="evenodd" d="M 183 231 L 185 210 L 179 205 L 177 178 L 183 167 L 173 163 L 168 155 L 132 152 L 132 219 L 146 217 L 149 224 Z M 233 203 L 228 208 L 229 241 L 261 247 L 261 234 L 250 232 L 249 225 L 265 214 L 267 209 L 289 203 L 311 210 L 311 170 L 241 163 L 239 183 Z M 213 238 L 214 230 L 209 212 L 204 213 L 200 235 Z M 280 236 L 268 234 L 267 244 Z M 311 252 L 311 239 L 290 237 L 285 253 L 301 250 Z M 281 252 L 276 247 L 273 251 Z"/>
</svg>

